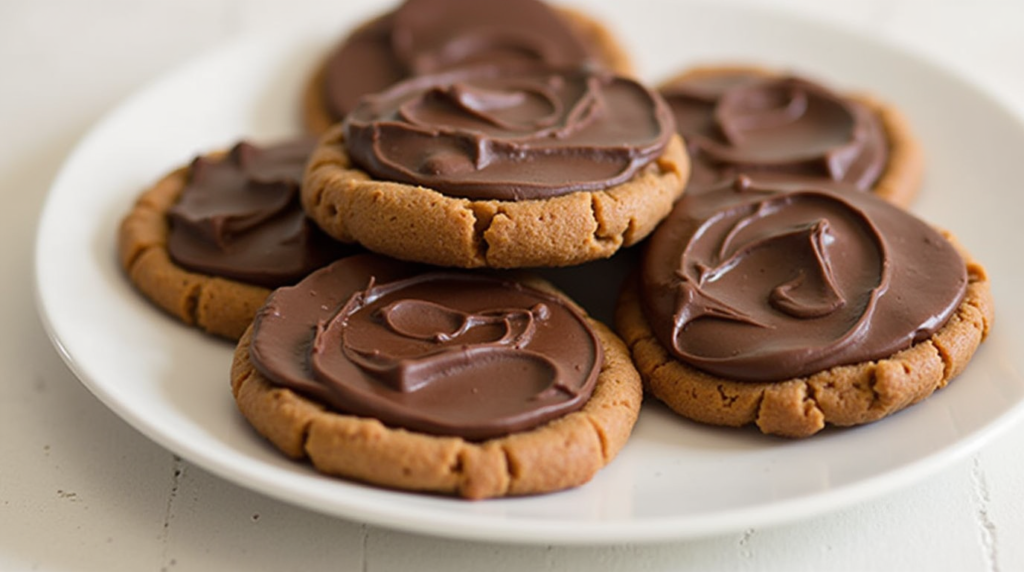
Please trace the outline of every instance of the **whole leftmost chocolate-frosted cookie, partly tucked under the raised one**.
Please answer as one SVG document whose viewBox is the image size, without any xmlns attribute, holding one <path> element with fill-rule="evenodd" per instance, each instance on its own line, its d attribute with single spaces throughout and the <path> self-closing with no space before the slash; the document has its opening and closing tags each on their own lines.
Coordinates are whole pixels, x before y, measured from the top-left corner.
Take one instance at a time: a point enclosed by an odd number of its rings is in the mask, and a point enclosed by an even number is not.
<svg viewBox="0 0 1024 572">
<path fill-rule="evenodd" d="M 118 250 L 132 282 L 185 323 L 238 340 L 270 289 L 355 250 L 302 212 L 314 145 L 243 142 L 161 179 L 121 223 Z"/>
</svg>

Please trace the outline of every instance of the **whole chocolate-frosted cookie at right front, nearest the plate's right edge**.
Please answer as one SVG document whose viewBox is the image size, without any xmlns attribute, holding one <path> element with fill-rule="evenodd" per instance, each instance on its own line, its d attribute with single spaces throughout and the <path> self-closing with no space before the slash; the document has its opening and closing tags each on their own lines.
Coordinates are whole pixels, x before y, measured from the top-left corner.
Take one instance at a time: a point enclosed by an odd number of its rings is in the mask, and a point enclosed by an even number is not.
<svg viewBox="0 0 1024 572">
<path fill-rule="evenodd" d="M 948 235 L 870 193 L 759 175 L 679 202 L 616 324 L 675 411 L 804 437 L 944 387 L 992 312 Z"/>
</svg>

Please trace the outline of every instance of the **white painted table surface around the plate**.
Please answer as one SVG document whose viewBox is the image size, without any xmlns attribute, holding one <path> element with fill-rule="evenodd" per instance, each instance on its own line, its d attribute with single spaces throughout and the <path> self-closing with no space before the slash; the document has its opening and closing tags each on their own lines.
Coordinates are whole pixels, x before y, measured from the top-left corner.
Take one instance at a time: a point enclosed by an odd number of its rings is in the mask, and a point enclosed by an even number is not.
<svg viewBox="0 0 1024 572">
<path fill-rule="evenodd" d="M 329 17 L 372 4 L 0 0 L 0 570 L 1024 570 L 1024 424 L 921 482 L 811 520 L 561 547 L 419 536 L 294 508 L 175 457 L 100 404 L 51 347 L 33 300 L 37 218 L 67 153 L 123 97 L 210 48 L 273 30 L 292 10 Z M 1022 0 L 775 4 L 925 54 L 1024 118 Z"/>
</svg>

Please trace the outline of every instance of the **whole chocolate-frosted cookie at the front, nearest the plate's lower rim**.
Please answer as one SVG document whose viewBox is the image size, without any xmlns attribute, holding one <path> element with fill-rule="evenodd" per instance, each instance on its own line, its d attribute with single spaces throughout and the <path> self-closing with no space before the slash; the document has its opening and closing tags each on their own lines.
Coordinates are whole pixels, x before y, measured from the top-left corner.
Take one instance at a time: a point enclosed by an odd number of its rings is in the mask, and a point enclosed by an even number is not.
<svg viewBox="0 0 1024 572">
<path fill-rule="evenodd" d="M 467 498 L 589 481 L 640 379 L 606 327 L 537 278 L 345 258 L 275 291 L 234 353 L 252 426 L 327 474 Z"/>
</svg>

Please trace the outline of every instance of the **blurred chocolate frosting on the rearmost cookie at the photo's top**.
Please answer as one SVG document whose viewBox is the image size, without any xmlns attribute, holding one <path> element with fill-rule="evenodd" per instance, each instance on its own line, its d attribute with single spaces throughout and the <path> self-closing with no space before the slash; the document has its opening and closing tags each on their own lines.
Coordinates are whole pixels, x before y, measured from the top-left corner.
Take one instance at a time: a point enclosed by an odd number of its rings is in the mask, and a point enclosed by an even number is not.
<svg viewBox="0 0 1024 572">
<path fill-rule="evenodd" d="M 328 61 L 329 112 L 414 76 L 480 62 L 580 65 L 593 61 L 562 17 L 537 0 L 407 0 L 356 30 Z"/>
</svg>

